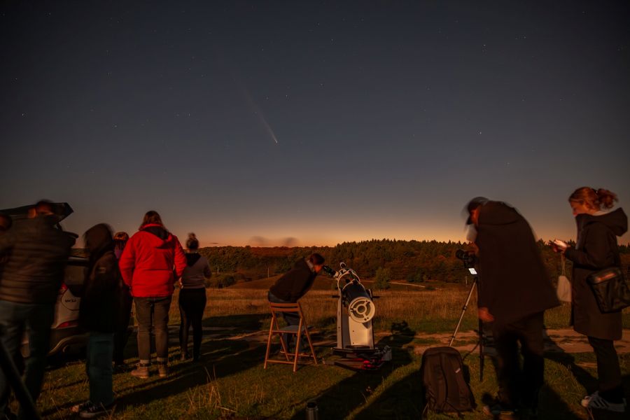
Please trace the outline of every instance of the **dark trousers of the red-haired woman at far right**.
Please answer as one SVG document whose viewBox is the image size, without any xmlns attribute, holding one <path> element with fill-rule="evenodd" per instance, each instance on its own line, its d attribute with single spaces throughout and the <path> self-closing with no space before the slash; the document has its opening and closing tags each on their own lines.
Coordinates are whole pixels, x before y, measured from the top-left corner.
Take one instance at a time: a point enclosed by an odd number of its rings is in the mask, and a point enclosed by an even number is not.
<svg viewBox="0 0 630 420">
<path fill-rule="evenodd" d="M 622 384 L 619 357 L 610 339 L 589 337 L 597 360 L 599 395 L 610 402 L 622 402 L 624 386 Z"/>
</svg>

